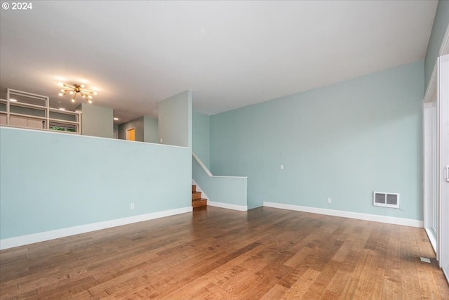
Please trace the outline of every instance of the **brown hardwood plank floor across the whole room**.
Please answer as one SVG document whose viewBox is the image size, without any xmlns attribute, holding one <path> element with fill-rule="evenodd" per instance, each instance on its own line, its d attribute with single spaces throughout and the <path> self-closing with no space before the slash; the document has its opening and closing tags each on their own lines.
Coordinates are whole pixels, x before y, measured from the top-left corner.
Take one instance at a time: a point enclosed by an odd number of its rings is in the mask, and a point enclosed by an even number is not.
<svg viewBox="0 0 449 300">
<path fill-rule="evenodd" d="M 207 207 L 1 251 L 0 299 L 449 299 L 449 287 L 420 228 Z"/>
</svg>

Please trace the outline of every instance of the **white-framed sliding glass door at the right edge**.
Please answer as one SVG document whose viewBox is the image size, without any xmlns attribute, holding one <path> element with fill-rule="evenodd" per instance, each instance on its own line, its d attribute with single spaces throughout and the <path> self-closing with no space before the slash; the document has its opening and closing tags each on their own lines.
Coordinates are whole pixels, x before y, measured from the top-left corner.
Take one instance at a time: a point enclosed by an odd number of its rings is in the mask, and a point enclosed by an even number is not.
<svg viewBox="0 0 449 300">
<path fill-rule="evenodd" d="M 449 281 L 449 55 L 424 99 L 424 228 Z"/>
</svg>

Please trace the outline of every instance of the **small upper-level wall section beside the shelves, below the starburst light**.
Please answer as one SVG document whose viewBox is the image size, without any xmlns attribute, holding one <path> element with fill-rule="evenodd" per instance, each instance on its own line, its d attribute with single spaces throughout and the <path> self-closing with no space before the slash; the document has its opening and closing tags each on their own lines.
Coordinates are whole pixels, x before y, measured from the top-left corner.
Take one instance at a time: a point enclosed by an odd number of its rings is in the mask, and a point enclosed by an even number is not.
<svg viewBox="0 0 449 300">
<path fill-rule="evenodd" d="M 81 134 L 83 136 L 114 137 L 113 110 L 107 107 L 81 103 L 76 110 L 81 110 Z"/>
</svg>

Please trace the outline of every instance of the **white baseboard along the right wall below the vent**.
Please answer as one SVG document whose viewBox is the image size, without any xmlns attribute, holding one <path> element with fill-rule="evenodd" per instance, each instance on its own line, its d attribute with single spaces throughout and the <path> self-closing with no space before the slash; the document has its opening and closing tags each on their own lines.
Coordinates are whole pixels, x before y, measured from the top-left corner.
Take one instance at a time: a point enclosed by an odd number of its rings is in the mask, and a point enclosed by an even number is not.
<svg viewBox="0 0 449 300">
<path fill-rule="evenodd" d="M 362 213 L 352 212 L 352 211 L 321 209 L 318 207 L 301 207 L 299 205 L 281 204 L 281 203 L 274 203 L 274 202 L 264 202 L 263 205 L 264 205 L 264 207 L 274 207 L 276 209 L 289 209 L 289 210 L 295 210 L 295 211 L 304 211 L 304 212 L 310 212 L 312 214 L 326 214 L 328 216 L 342 216 L 344 218 L 375 221 L 375 222 L 389 223 L 389 224 L 396 224 L 396 225 L 403 225 L 403 226 L 410 226 L 410 227 L 417 227 L 417 228 L 424 227 L 423 221 L 413 220 L 413 219 L 396 218 L 394 216 L 378 216 L 377 214 L 362 214 Z"/>
</svg>

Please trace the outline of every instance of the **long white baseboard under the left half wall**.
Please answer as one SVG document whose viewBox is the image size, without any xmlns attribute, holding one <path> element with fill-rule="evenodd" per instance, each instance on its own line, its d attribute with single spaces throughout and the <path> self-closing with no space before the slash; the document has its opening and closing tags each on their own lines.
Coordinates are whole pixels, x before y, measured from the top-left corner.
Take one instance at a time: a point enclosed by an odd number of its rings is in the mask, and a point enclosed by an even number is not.
<svg viewBox="0 0 449 300">
<path fill-rule="evenodd" d="M 60 237 L 68 237 L 69 235 L 79 235 L 95 230 L 102 230 L 116 226 L 122 226 L 130 223 L 137 223 L 152 219 L 162 218 L 164 216 L 173 216 L 175 214 L 184 214 L 191 212 L 192 207 L 181 207 L 179 209 L 168 209 L 166 211 L 157 211 L 151 214 L 141 214 L 138 216 L 129 216 L 127 218 L 91 223 L 81 226 L 61 228 L 57 230 L 45 231 L 43 233 L 33 233 L 31 235 L 21 235 L 20 237 L 10 237 L 0 240 L 0 250 L 23 246 L 25 244 L 33 244 L 35 242 L 43 242 L 46 240 L 54 240 Z"/>
</svg>

